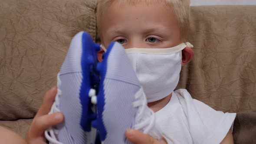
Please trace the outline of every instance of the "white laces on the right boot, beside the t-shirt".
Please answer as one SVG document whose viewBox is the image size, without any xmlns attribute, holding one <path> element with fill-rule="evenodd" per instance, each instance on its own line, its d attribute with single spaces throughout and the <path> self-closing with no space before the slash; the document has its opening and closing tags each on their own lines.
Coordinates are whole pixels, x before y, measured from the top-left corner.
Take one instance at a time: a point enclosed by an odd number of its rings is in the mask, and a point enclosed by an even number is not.
<svg viewBox="0 0 256 144">
<path fill-rule="evenodd" d="M 135 94 L 135 98 L 137 101 L 133 102 L 133 107 L 138 107 L 138 115 L 135 118 L 134 128 L 136 130 L 141 130 L 145 134 L 149 132 L 153 133 L 153 137 L 157 139 L 161 139 L 162 134 L 158 128 L 156 127 L 156 116 L 154 111 L 148 108 L 147 98 L 142 88 Z M 154 129 L 154 130 L 153 130 Z M 151 135 L 152 136 L 152 135 Z"/>
</svg>

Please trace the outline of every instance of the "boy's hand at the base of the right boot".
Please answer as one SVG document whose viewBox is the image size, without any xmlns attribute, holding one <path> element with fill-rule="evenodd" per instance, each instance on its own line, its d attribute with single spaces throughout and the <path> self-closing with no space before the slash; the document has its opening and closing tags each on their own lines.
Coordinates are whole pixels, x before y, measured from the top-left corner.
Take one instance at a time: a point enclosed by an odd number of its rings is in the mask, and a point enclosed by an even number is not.
<svg viewBox="0 0 256 144">
<path fill-rule="evenodd" d="M 128 140 L 135 144 L 167 144 L 167 141 L 165 141 L 164 139 L 158 141 L 148 134 L 144 134 L 141 131 L 133 129 L 128 129 L 125 132 L 125 135 L 128 138 Z"/>
</svg>

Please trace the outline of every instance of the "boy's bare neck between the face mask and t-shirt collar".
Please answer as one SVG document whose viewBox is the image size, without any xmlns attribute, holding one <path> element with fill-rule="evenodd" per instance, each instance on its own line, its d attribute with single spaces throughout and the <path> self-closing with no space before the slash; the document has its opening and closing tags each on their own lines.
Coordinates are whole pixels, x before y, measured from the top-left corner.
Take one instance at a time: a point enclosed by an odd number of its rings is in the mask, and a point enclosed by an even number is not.
<svg viewBox="0 0 256 144">
<path fill-rule="evenodd" d="M 172 94 L 172 93 L 171 93 L 171 94 Z M 154 112 L 157 112 L 157 111 L 161 110 L 161 109 L 164 108 L 165 105 L 167 105 L 168 102 L 170 101 L 170 99 L 171 99 L 171 94 L 168 95 L 168 96 L 165 97 L 165 98 L 162 98 L 162 99 L 158 100 L 158 101 L 149 102 L 149 103 L 148 103 L 148 107 L 149 107 L 152 111 L 154 111 Z"/>
</svg>

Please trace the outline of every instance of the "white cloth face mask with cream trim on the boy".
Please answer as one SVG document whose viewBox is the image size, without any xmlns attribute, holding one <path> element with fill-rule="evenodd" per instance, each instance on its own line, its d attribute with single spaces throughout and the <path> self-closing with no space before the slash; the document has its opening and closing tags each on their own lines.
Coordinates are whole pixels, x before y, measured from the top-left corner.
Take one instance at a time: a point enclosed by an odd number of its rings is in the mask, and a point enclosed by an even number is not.
<svg viewBox="0 0 256 144">
<path fill-rule="evenodd" d="M 193 47 L 181 43 L 165 49 L 125 49 L 148 102 L 158 101 L 174 91 L 180 78 L 181 50 L 187 46 Z"/>
</svg>

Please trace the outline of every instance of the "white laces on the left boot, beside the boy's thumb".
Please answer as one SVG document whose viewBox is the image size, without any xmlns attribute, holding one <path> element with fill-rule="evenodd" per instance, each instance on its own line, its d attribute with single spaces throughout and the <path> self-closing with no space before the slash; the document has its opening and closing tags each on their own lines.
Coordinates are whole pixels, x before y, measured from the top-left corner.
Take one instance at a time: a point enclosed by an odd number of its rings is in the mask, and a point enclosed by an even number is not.
<svg viewBox="0 0 256 144">
<path fill-rule="evenodd" d="M 55 112 L 60 111 L 59 108 L 58 108 L 58 107 L 59 107 L 59 96 L 62 95 L 62 91 L 59 89 L 60 85 L 61 85 L 61 80 L 60 80 L 59 74 L 58 74 L 58 75 L 57 75 L 57 95 L 56 95 L 56 97 L 55 97 L 55 101 L 54 101 L 54 103 L 53 103 L 53 106 L 52 106 L 51 111 L 49 112 L 49 114 L 53 114 L 53 113 L 55 113 Z M 53 143 L 53 144 L 62 144 L 61 142 L 59 142 L 59 141 L 57 140 L 57 138 L 56 138 L 56 136 L 55 136 L 55 135 L 58 134 L 58 133 L 59 133 L 59 131 L 58 131 L 56 128 L 53 128 L 53 127 L 47 129 L 47 130 L 44 132 L 45 137 L 46 137 L 46 139 L 47 139 L 49 142 L 51 142 L 51 143 Z"/>
</svg>

